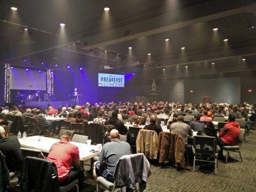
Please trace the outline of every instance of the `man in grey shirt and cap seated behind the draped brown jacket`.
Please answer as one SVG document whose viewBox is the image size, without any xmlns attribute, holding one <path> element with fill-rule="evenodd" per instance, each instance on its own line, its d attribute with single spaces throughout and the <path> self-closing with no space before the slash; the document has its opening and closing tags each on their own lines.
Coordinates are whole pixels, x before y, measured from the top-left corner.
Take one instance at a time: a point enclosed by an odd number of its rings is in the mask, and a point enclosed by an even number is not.
<svg viewBox="0 0 256 192">
<path fill-rule="evenodd" d="M 172 123 L 170 125 L 170 130 L 171 132 L 175 132 L 181 135 L 185 144 L 187 144 L 187 136 L 193 136 L 192 129 L 188 124 L 184 123 L 184 117 L 182 115 L 177 117 L 176 123 Z"/>
</svg>

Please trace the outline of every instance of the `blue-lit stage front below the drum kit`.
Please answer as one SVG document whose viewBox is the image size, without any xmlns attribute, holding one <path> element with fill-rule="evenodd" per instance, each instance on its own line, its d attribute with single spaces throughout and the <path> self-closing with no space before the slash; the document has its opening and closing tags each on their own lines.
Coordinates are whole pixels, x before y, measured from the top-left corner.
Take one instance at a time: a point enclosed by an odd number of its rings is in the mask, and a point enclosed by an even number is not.
<svg viewBox="0 0 256 192">
<path fill-rule="evenodd" d="M 62 108 L 62 105 L 65 105 L 66 108 L 68 108 L 69 105 L 68 101 L 28 101 L 25 103 L 25 106 L 46 109 L 48 104 L 53 108 Z"/>
</svg>

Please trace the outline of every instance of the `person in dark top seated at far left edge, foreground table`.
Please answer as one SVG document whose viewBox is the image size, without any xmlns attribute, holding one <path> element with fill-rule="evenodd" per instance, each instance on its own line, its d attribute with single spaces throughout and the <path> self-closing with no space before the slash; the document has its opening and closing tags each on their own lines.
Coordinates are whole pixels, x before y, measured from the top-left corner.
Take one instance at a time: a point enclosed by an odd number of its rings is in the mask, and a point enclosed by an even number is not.
<svg viewBox="0 0 256 192">
<path fill-rule="evenodd" d="M 0 151 L 5 156 L 7 168 L 10 172 L 21 170 L 23 164 L 20 142 L 16 136 L 8 137 L 8 130 L 0 126 Z"/>
</svg>

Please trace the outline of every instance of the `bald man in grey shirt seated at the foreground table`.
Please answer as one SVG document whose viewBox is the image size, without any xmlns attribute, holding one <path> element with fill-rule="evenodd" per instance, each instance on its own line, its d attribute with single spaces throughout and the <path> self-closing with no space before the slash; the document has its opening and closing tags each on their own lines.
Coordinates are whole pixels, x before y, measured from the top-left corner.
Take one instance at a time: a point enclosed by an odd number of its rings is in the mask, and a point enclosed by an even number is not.
<svg viewBox="0 0 256 192">
<path fill-rule="evenodd" d="M 118 159 L 121 156 L 132 154 L 130 144 L 120 141 L 120 134 L 116 129 L 111 130 L 110 140 L 111 142 L 103 145 L 99 161 L 94 164 L 93 177 L 96 189 L 98 176 L 114 182 L 113 175 Z"/>
</svg>

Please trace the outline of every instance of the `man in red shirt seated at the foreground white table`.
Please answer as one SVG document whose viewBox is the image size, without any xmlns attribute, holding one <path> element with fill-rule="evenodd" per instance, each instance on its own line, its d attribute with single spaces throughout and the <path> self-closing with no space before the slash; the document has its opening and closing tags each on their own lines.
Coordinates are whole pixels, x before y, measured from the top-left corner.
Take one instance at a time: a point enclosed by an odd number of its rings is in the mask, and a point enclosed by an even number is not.
<svg viewBox="0 0 256 192">
<path fill-rule="evenodd" d="M 71 132 L 64 131 L 61 134 L 61 141 L 51 146 L 47 160 L 57 166 L 60 186 L 68 185 L 78 179 L 81 192 L 84 183 L 84 168 L 80 166 L 78 147 L 69 143 L 70 140 Z M 73 168 L 71 168 L 72 165 Z"/>
</svg>

